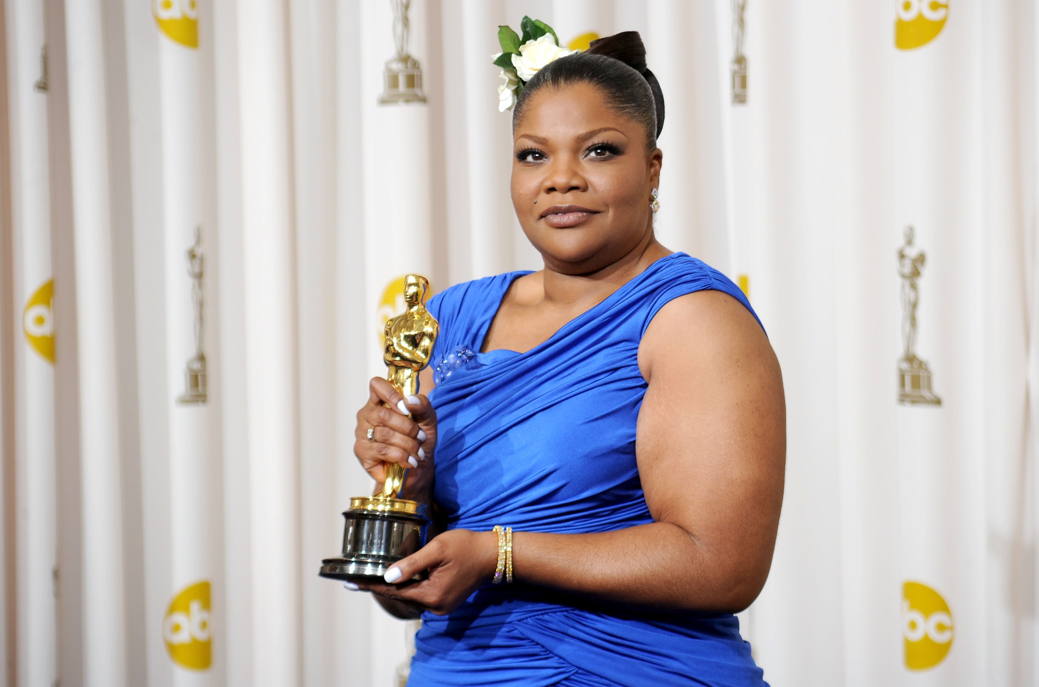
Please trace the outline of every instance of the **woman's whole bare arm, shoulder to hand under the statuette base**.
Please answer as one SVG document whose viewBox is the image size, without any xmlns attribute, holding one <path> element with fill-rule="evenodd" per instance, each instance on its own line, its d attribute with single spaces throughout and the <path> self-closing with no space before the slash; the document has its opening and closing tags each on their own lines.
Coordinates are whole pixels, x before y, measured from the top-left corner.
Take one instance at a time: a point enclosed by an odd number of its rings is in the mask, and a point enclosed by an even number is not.
<svg viewBox="0 0 1039 687">
<path fill-rule="evenodd" d="M 639 367 L 649 388 L 637 459 L 656 522 L 594 534 L 517 532 L 516 579 L 616 606 L 742 610 L 765 584 L 782 502 L 778 363 L 747 310 L 707 291 L 661 310 Z M 455 530 L 398 564 L 405 579 L 428 567 L 426 582 L 366 586 L 449 612 L 486 582 L 496 559 L 494 533 Z"/>
</svg>

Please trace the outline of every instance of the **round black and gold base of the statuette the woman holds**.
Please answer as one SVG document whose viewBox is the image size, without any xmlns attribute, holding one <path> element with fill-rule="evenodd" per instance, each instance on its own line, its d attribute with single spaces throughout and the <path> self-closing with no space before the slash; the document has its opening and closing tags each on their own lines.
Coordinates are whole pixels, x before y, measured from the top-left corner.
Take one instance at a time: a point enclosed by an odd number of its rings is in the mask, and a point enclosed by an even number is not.
<svg viewBox="0 0 1039 687">
<path fill-rule="evenodd" d="M 321 577 L 382 577 L 391 565 L 426 543 L 426 506 L 416 501 L 354 497 L 343 517 L 343 555 L 321 561 Z"/>
</svg>

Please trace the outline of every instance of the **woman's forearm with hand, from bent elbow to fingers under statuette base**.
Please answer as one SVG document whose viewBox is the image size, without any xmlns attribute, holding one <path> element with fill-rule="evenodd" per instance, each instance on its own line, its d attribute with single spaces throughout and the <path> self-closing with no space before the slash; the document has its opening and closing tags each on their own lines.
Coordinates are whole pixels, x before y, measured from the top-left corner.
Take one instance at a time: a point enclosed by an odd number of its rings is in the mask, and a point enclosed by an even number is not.
<svg viewBox="0 0 1039 687">
<path fill-rule="evenodd" d="M 731 613 L 757 596 L 771 554 L 749 537 L 734 536 L 743 546 L 722 555 L 668 523 L 592 534 L 513 532 L 513 579 L 616 609 Z M 498 543 L 494 532 L 448 530 L 395 563 L 387 581 L 357 584 L 433 613 L 450 613 L 490 581 Z M 427 580 L 410 581 L 423 571 Z"/>
</svg>

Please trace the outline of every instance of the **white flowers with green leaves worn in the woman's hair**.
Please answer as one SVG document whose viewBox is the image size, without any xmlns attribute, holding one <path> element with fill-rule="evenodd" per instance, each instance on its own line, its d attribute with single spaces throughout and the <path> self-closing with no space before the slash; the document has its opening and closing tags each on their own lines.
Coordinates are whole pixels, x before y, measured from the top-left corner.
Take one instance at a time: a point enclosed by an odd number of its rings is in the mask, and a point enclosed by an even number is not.
<svg viewBox="0 0 1039 687">
<path fill-rule="evenodd" d="M 498 43 L 502 52 L 494 55 L 495 64 L 502 68 L 505 83 L 498 86 L 498 111 L 515 107 L 524 84 L 544 69 L 549 62 L 580 50 L 567 50 L 559 45 L 559 36 L 544 22 L 524 17 L 520 22 L 523 37 L 508 26 L 498 27 Z"/>
</svg>

